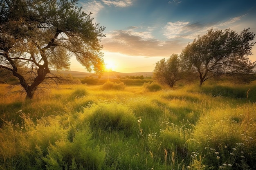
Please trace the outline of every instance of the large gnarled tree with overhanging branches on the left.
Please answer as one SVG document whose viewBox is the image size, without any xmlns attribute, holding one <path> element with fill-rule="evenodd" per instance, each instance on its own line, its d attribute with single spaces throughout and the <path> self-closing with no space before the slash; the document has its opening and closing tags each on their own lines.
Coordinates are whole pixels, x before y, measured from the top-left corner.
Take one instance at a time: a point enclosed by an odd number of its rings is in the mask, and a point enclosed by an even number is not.
<svg viewBox="0 0 256 170">
<path fill-rule="evenodd" d="M 50 69 L 68 69 L 71 56 L 88 71 L 103 71 L 105 28 L 93 24 L 77 1 L 1 0 L 0 68 L 19 79 L 27 98 L 51 78 Z"/>
</svg>

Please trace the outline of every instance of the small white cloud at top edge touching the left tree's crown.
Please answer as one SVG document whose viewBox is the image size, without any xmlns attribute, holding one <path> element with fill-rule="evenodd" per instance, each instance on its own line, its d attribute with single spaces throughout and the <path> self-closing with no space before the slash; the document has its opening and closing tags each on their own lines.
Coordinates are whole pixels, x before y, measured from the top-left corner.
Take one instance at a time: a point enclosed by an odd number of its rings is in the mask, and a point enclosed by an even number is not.
<svg viewBox="0 0 256 170">
<path fill-rule="evenodd" d="M 96 0 L 91 0 L 88 1 L 87 3 L 81 2 L 82 5 L 82 10 L 85 13 L 92 13 L 94 16 L 96 16 L 99 11 L 101 11 L 101 9 L 103 9 L 103 5 L 101 4 L 101 2 L 96 1 Z"/>
</svg>

